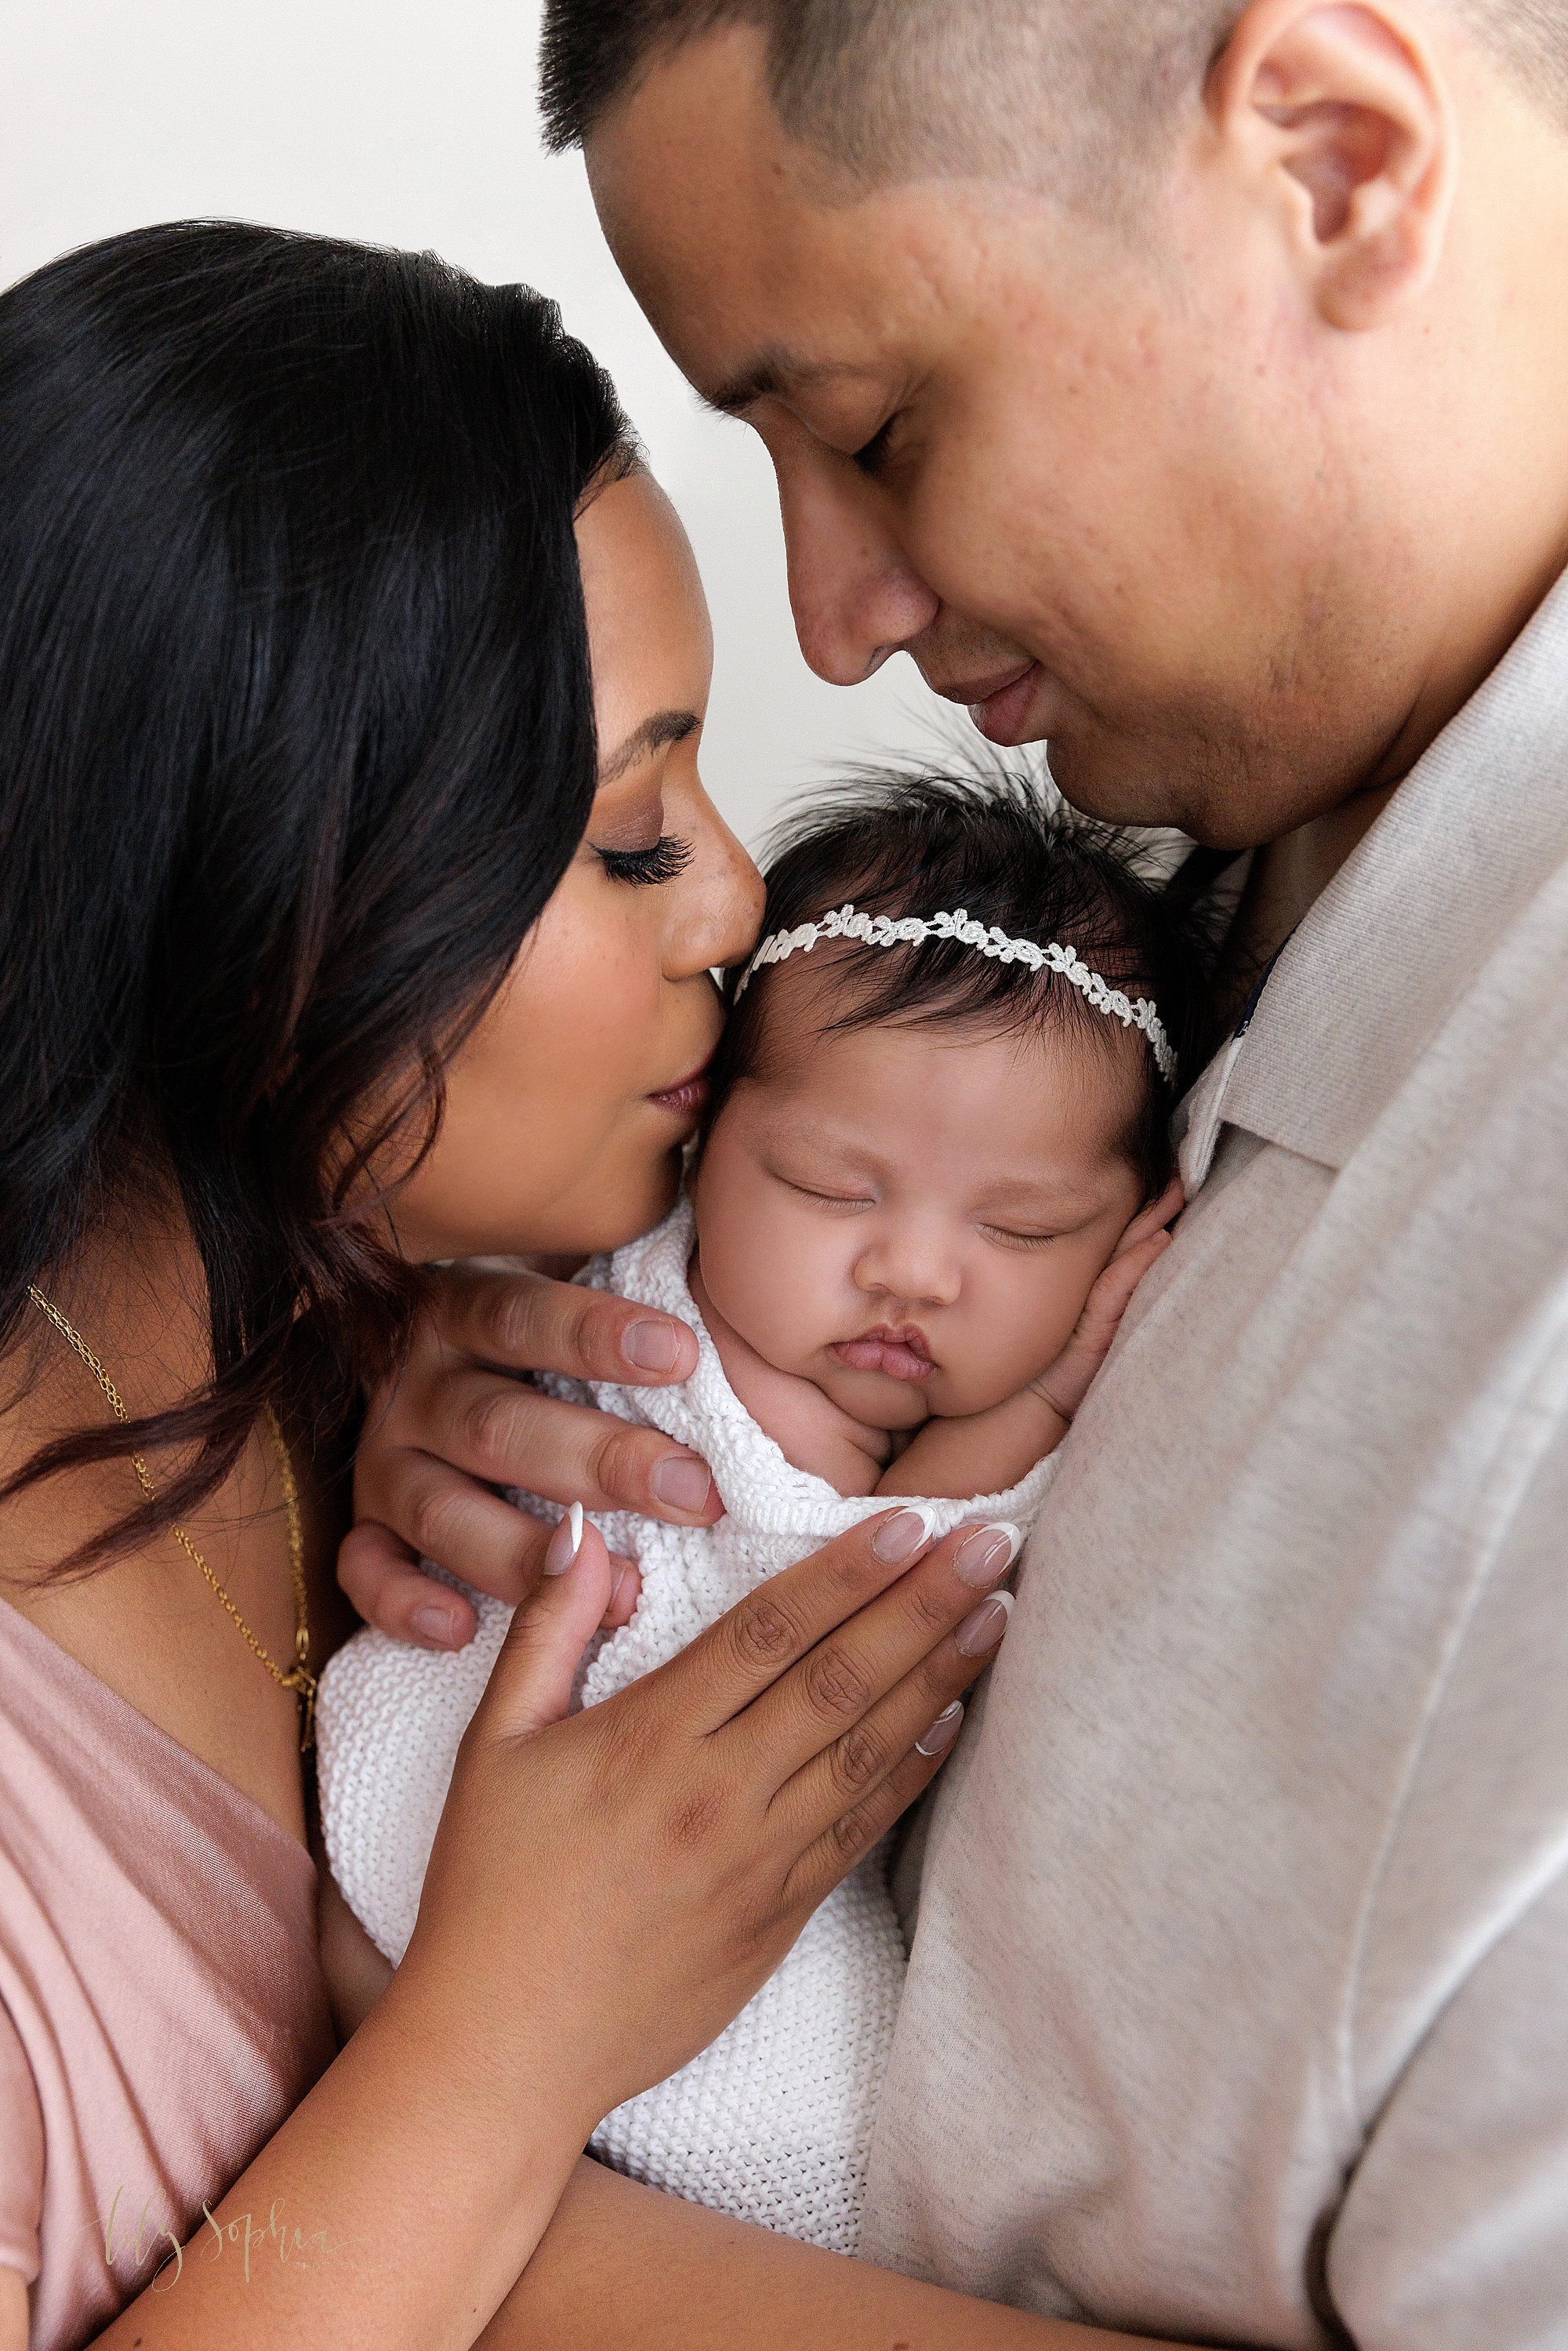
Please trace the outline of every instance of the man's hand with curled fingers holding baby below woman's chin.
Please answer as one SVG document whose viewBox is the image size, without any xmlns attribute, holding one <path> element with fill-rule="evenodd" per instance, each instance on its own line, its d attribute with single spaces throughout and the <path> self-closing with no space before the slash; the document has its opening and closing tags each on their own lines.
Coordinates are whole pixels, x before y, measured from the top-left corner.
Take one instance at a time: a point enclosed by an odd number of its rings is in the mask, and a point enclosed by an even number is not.
<svg viewBox="0 0 1568 2351">
<path fill-rule="evenodd" d="M 470 1603 L 423 1575 L 421 1559 L 508 1606 L 529 1599 L 552 1528 L 505 1502 L 501 1486 L 675 1526 L 724 1516 L 696 1453 L 658 1429 L 559 1404 L 520 1378 L 529 1371 L 672 1387 L 696 1371 L 696 1338 L 654 1307 L 512 1262 L 433 1272 L 402 1378 L 371 1399 L 355 1462 L 357 1523 L 339 1554 L 348 1599 L 381 1632 L 423 1648 L 473 1639 Z M 632 1563 L 616 1566 L 609 1625 L 623 1625 L 637 1596 Z"/>
</svg>

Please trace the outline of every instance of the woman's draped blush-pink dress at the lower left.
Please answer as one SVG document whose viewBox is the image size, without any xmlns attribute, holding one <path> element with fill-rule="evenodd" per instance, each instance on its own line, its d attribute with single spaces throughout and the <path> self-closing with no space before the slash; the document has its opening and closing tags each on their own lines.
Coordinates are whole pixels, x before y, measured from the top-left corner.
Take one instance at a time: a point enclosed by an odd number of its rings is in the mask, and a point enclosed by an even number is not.
<svg viewBox="0 0 1568 2351">
<path fill-rule="evenodd" d="M 0 2262 L 33 2351 L 193 2229 L 186 2259 L 240 2259 L 202 2205 L 331 2052 L 310 1855 L 0 1601 Z"/>
</svg>

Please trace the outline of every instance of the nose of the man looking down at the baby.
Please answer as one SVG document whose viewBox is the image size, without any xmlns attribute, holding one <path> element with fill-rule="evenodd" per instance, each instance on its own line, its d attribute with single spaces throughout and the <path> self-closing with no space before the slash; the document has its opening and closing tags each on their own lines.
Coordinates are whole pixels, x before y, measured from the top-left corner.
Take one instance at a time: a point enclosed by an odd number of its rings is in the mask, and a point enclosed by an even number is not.
<svg viewBox="0 0 1568 2351">
<path fill-rule="evenodd" d="M 940 600 L 910 569 L 884 494 L 804 426 L 769 433 L 799 649 L 830 686 L 858 686 L 922 637 Z"/>
</svg>

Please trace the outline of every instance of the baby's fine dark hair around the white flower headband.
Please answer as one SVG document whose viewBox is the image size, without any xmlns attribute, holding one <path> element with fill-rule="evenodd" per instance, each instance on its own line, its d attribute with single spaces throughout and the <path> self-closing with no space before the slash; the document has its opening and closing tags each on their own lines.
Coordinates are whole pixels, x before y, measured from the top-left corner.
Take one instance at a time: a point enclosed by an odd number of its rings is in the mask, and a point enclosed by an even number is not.
<svg viewBox="0 0 1568 2351">
<path fill-rule="evenodd" d="M 1150 997 L 1175 1072 L 1164 1077 L 1138 1037 L 1147 1084 L 1128 1157 L 1150 1194 L 1164 1187 L 1173 1161 L 1171 1110 L 1208 1049 L 1213 952 L 1201 919 L 1143 870 L 1131 835 L 1077 816 L 1037 776 L 863 769 L 825 802 L 785 818 L 766 846 L 764 877 L 764 938 L 846 903 L 865 915 L 924 919 L 961 907 L 1009 938 L 1070 945 L 1133 1002 Z M 820 966 L 827 957 L 835 1013 L 825 1034 L 884 1023 L 973 1023 L 992 1034 L 1072 1023 L 1107 1051 L 1124 1037 L 1121 1023 L 1095 1011 L 1058 971 L 1004 964 L 957 940 L 816 947 L 811 962 Z M 729 1025 L 712 1067 L 708 1126 L 762 1067 L 771 973 L 757 971 L 738 994 L 743 971 L 726 978 Z"/>
</svg>

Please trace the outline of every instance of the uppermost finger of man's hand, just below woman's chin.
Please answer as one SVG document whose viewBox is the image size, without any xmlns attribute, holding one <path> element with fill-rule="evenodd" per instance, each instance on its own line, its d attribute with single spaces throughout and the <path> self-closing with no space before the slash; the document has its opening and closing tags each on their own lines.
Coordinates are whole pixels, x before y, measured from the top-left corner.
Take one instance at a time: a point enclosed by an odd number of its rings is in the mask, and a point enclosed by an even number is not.
<svg viewBox="0 0 1568 2351">
<path fill-rule="evenodd" d="M 548 1274 L 454 1265 L 433 1279 L 430 1310 L 458 1354 L 512 1371 L 630 1387 L 668 1387 L 696 1371 L 696 1338 L 684 1321 Z"/>
</svg>

